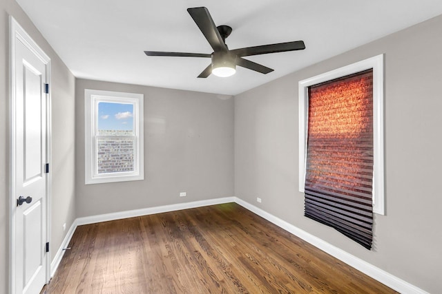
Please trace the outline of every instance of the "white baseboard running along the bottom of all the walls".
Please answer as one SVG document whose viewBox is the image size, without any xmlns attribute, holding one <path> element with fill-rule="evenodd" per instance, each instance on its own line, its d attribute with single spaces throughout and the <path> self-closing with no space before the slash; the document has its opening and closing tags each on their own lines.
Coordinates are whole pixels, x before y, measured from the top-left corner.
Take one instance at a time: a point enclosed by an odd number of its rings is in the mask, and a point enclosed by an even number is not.
<svg viewBox="0 0 442 294">
<path fill-rule="evenodd" d="M 271 213 L 268 213 L 267 211 L 264 211 L 253 204 L 250 204 L 249 202 L 245 202 L 244 200 L 241 200 L 237 197 L 226 197 L 226 198 L 216 198 L 212 200 L 201 200 L 201 201 L 195 201 L 195 202 L 186 202 L 186 203 L 178 203 L 178 204 L 171 204 L 171 205 L 164 205 L 160 207 L 150 207 L 146 209 L 135 209 L 131 211 L 121 211 L 116 213 L 106 213 L 98 216 L 88 216 L 84 218 L 77 218 L 72 226 L 70 227 L 68 234 L 64 238 L 63 242 L 61 243 L 61 246 L 59 250 L 57 251 L 57 254 L 55 255 L 54 260 L 52 260 L 52 263 L 50 264 L 50 274 L 51 277 L 54 275 L 55 271 L 57 270 L 57 267 L 59 266 L 61 262 L 61 258 L 63 258 L 64 255 L 64 248 L 66 248 L 70 242 L 70 238 L 72 238 L 73 233 L 75 229 L 77 229 L 77 226 L 81 224 L 94 224 L 97 222 L 107 222 L 109 220 L 119 220 L 122 218 L 133 218 L 136 216 L 147 216 L 149 214 L 155 214 L 155 213 L 163 213 L 163 212 L 169 212 L 169 211 L 177 211 L 182 209 L 191 209 L 195 207 L 204 207 L 208 205 L 214 205 L 214 204 L 222 204 L 222 203 L 229 203 L 229 202 L 236 202 L 240 204 L 245 209 L 248 209 L 249 211 L 256 213 L 258 216 L 265 218 L 269 222 L 276 224 L 281 229 L 284 229 L 285 231 L 288 231 L 289 233 L 292 233 L 296 235 L 297 237 L 301 238 L 302 240 L 305 240 L 306 242 L 309 242 L 310 244 L 316 246 L 318 249 L 321 249 L 325 251 L 326 253 L 329 253 L 329 255 L 332 255 L 334 258 L 337 258 L 338 260 L 345 262 L 349 266 L 354 267 L 354 269 L 357 269 L 358 271 L 361 271 L 365 273 L 365 275 L 368 275 L 369 277 L 374 278 L 374 280 L 377 280 L 378 282 L 381 282 L 385 284 L 386 286 L 389 286 L 390 288 L 394 289 L 395 291 L 398 291 L 400 293 L 404 294 L 429 294 L 425 291 L 423 291 L 421 288 L 418 288 L 408 282 L 405 282 L 404 280 L 399 279 L 398 277 L 387 273 L 386 271 L 383 271 L 382 269 L 379 269 L 378 267 L 374 266 L 373 264 L 369 264 L 368 262 L 365 262 L 364 260 L 361 260 L 360 258 L 356 258 L 356 256 L 347 253 L 343 251 L 342 249 L 339 249 L 338 247 L 329 244 L 328 242 L 325 242 L 324 240 L 311 235 L 310 233 L 307 233 L 306 231 L 299 229 L 298 227 L 295 227 L 293 224 L 289 224 L 285 220 L 281 220 L 280 218 L 277 218 L 276 216 L 273 216 Z"/>
</svg>

